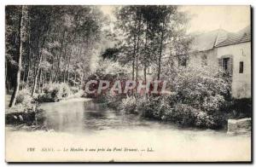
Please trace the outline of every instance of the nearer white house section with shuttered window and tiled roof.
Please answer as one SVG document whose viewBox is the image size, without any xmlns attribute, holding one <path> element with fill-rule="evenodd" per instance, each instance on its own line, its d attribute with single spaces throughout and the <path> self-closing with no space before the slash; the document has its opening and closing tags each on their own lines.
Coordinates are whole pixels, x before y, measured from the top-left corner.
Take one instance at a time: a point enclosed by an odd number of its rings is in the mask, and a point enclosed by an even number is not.
<svg viewBox="0 0 256 167">
<path fill-rule="evenodd" d="M 232 77 L 232 96 L 251 97 L 251 28 L 228 33 L 226 39 L 216 44 L 218 64 Z"/>
</svg>

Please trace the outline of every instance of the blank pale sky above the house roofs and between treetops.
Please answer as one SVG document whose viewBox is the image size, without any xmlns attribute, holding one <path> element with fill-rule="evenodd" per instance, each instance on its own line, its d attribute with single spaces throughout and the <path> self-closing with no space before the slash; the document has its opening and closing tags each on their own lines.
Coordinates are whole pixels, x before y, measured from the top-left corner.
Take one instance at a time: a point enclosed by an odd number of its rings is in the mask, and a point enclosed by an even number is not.
<svg viewBox="0 0 256 167">
<path fill-rule="evenodd" d="M 101 6 L 102 12 L 113 20 L 114 6 Z M 192 16 L 188 32 L 208 32 L 222 28 L 237 32 L 250 25 L 250 6 L 180 6 Z"/>
</svg>

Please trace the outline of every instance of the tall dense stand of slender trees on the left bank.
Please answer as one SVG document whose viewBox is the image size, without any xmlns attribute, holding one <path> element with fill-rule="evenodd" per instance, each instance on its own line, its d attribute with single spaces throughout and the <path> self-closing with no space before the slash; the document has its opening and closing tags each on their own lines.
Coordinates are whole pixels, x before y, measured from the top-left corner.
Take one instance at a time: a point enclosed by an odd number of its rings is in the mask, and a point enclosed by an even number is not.
<svg viewBox="0 0 256 167">
<path fill-rule="evenodd" d="M 8 91 L 15 88 L 18 69 L 22 69 L 20 88 L 33 88 L 32 95 L 47 83 L 83 83 L 90 72 L 90 56 L 100 49 L 103 37 L 106 18 L 100 9 L 81 5 L 8 5 L 5 12 Z M 22 57 L 20 65 L 18 55 Z"/>
</svg>

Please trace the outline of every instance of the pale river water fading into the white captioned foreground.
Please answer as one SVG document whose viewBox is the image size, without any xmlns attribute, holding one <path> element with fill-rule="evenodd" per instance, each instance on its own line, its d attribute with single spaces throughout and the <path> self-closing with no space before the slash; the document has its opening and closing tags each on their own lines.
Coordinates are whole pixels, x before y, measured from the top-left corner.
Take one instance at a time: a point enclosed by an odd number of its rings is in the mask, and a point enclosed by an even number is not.
<svg viewBox="0 0 256 167">
<path fill-rule="evenodd" d="M 243 161 L 251 157 L 250 135 L 228 135 L 225 130 L 182 128 L 107 109 L 92 101 L 44 103 L 40 124 L 46 131 L 7 131 L 7 157 L 30 146 L 117 147 L 146 150 L 137 153 L 35 153 L 41 161 Z M 17 150 L 15 146 L 19 146 Z M 149 150 L 149 152 L 147 152 Z M 150 152 L 152 150 L 152 152 Z M 43 158 L 43 159 L 42 159 Z"/>
</svg>

